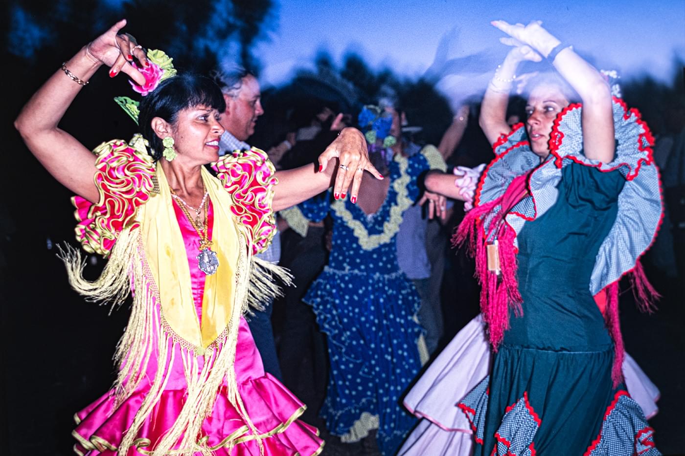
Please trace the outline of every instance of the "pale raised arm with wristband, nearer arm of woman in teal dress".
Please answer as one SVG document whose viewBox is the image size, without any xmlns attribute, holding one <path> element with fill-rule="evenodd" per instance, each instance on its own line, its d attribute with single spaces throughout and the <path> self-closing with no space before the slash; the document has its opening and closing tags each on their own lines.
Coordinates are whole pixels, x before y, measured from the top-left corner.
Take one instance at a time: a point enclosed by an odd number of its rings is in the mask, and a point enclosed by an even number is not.
<svg viewBox="0 0 685 456">
<path fill-rule="evenodd" d="M 544 55 L 580 95 L 583 103 L 583 152 L 592 160 L 611 162 L 616 144 L 608 84 L 599 71 L 573 51 L 571 45 L 562 43 L 541 24 L 540 21 L 533 21 L 524 26 L 493 21 L 495 27 L 512 37 L 503 38 L 502 42 L 514 46 L 514 49 L 521 47 L 523 43 L 532 47 L 538 55 Z"/>
</svg>

